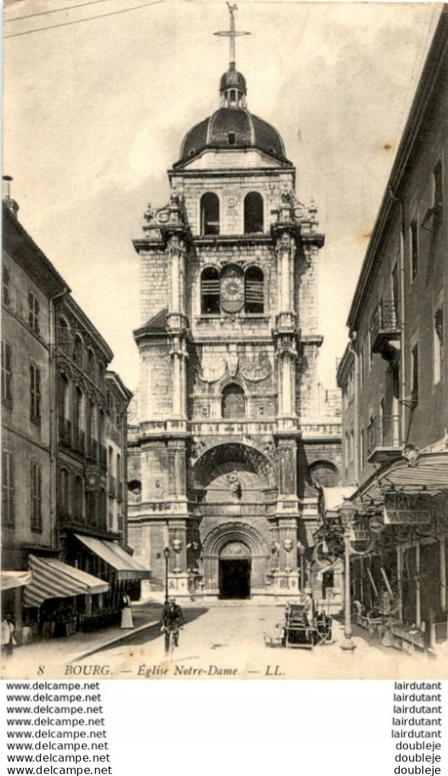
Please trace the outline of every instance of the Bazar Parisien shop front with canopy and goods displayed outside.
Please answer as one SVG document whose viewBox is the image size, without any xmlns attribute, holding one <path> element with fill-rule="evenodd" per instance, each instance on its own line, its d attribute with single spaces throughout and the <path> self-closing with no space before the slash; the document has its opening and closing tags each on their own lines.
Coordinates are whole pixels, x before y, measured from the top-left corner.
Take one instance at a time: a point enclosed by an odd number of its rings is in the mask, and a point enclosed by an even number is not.
<svg viewBox="0 0 448 776">
<path fill-rule="evenodd" d="M 353 494 L 376 540 L 352 559 L 359 622 L 380 622 L 387 646 L 437 650 L 448 638 L 448 453 L 421 453 L 376 473 Z"/>
</svg>

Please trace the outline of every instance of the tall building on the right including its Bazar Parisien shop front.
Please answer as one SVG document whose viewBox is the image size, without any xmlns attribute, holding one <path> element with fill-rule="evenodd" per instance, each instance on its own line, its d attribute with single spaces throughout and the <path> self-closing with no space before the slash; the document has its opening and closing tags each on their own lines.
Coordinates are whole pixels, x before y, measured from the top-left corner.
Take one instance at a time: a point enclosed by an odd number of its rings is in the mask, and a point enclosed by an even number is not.
<svg viewBox="0 0 448 776">
<path fill-rule="evenodd" d="M 353 594 L 398 646 L 446 638 L 448 13 L 442 12 L 349 313 L 345 483 L 378 532 Z"/>
</svg>

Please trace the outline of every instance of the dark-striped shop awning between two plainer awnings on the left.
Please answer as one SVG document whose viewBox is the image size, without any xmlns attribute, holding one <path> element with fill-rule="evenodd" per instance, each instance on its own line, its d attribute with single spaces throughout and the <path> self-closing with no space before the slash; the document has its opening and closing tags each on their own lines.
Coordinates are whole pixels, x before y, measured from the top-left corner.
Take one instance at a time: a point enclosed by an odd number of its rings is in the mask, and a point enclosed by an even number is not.
<svg viewBox="0 0 448 776">
<path fill-rule="evenodd" d="M 32 580 L 23 594 L 25 606 L 40 606 L 47 598 L 106 593 L 109 584 L 56 558 L 29 556 Z"/>
</svg>

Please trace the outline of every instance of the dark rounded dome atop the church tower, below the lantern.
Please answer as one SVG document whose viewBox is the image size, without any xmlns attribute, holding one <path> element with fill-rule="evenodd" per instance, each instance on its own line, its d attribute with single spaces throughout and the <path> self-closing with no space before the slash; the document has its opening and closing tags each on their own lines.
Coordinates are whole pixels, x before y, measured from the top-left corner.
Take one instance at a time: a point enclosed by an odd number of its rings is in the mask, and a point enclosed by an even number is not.
<svg viewBox="0 0 448 776">
<path fill-rule="evenodd" d="M 181 158 L 175 167 L 186 164 L 206 149 L 221 148 L 257 148 L 277 161 L 290 165 L 285 156 L 283 140 L 271 124 L 249 113 L 246 108 L 227 107 L 218 109 L 213 116 L 196 124 L 186 133 Z"/>
</svg>

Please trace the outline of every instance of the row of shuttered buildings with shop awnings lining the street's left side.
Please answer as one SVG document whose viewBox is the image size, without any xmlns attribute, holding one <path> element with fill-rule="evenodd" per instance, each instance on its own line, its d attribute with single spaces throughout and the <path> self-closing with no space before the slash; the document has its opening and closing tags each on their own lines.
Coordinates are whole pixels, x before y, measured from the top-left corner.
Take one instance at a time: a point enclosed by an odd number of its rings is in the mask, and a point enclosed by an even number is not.
<svg viewBox="0 0 448 776">
<path fill-rule="evenodd" d="M 127 547 L 127 405 L 113 353 L 17 219 L 2 264 L 2 606 L 20 643 L 116 619 L 149 571 Z"/>
</svg>

